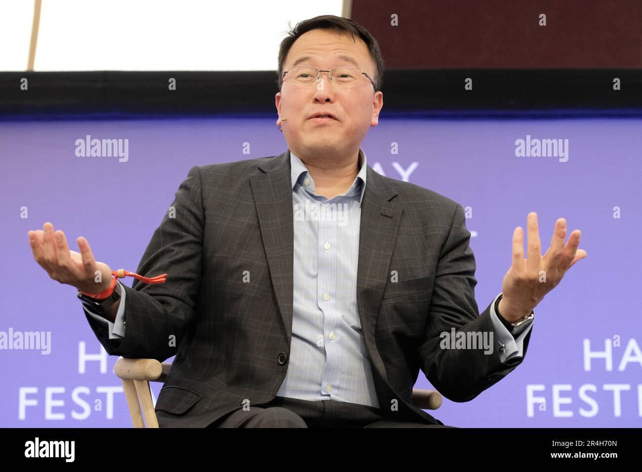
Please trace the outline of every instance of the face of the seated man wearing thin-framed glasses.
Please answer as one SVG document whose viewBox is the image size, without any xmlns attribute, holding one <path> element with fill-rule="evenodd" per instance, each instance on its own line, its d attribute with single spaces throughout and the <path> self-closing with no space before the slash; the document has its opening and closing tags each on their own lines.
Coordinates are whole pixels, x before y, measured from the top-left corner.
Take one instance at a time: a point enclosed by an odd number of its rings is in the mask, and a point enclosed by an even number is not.
<svg viewBox="0 0 642 472">
<path fill-rule="evenodd" d="M 345 58 L 354 59 L 353 64 Z M 332 30 L 312 30 L 297 39 L 283 64 L 283 71 L 309 57 L 297 66 L 316 66 L 321 70 L 331 67 L 360 67 L 376 80 L 374 61 L 360 38 L 352 39 L 347 32 L 341 35 Z M 334 85 L 321 73 L 319 83 L 295 85 L 286 74 L 281 92 L 276 94 L 279 116 L 285 121 L 282 130 L 288 147 L 297 155 L 346 155 L 358 149 L 370 127 L 377 126 L 383 107 L 383 93 L 374 92 L 370 80 L 362 75 L 354 87 Z M 319 121 L 309 119 L 316 112 L 329 112 L 337 119 Z"/>
</svg>

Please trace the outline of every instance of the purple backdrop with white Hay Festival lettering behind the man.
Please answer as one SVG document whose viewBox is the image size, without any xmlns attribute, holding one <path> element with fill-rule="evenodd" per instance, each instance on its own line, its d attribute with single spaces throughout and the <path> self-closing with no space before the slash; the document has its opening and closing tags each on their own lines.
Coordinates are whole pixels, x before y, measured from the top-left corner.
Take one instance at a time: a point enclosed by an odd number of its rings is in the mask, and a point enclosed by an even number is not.
<svg viewBox="0 0 642 472">
<path fill-rule="evenodd" d="M 27 232 L 49 221 L 65 232 L 71 249 L 78 250 L 75 240 L 85 236 L 98 260 L 135 271 L 189 168 L 283 152 L 286 143 L 274 121 L 0 123 L 0 336 L 39 331 L 46 339 L 50 333 L 48 354 L 42 346 L 0 350 L 0 426 L 132 424 L 112 370 L 116 356 L 107 356 L 94 337 L 76 290 L 52 281 L 35 263 Z M 588 253 L 535 308 L 525 361 L 473 401 L 444 399 L 433 412 L 444 423 L 642 424 L 640 125 L 639 119 L 383 119 L 370 130 L 362 144 L 370 166 L 469 210 L 480 310 L 501 291 L 513 229 L 525 227 L 528 212 L 539 215 L 543 250 L 563 216 L 568 233 L 582 230 L 580 247 Z M 78 157 L 76 140 L 87 135 L 127 139 L 126 161 Z M 518 139 L 560 139 L 568 153 L 517 156 Z M 398 153 L 391 152 L 395 143 Z M 399 170 L 407 172 L 414 163 L 404 179 Z M 416 387 L 430 388 L 419 376 Z M 159 389 L 154 383 L 155 398 Z"/>
</svg>

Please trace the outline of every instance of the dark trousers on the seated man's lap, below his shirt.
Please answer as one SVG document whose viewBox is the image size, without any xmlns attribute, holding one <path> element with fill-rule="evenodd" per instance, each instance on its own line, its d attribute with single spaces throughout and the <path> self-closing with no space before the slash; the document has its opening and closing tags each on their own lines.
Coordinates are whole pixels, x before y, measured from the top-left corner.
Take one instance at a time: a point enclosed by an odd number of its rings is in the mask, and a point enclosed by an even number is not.
<svg viewBox="0 0 642 472">
<path fill-rule="evenodd" d="M 386 419 L 379 408 L 336 400 L 308 401 L 275 397 L 236 410 L 208 428 L 454 428 L 442 424 Z"/>
</svg>

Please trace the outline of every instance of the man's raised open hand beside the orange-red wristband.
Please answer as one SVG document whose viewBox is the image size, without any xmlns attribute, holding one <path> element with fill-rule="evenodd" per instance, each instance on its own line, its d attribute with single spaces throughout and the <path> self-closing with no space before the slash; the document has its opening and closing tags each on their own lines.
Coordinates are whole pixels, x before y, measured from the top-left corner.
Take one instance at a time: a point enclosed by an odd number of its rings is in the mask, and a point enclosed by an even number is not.
<svg viewBox="0 0 642 472">
<path fill-rule="evenodd" d="M 44 223 L 42 229 L 29 231 L 29 242 L 33 258 L 46 270 L 49 277 L 78 288 L 85 293 L 100 293 L 112 281 L 112 270 L 102 262 L 96 262 L 89 242 L 82 236 L 76 239 L 80 252 L 69 250 L 65 233 L 53 231 L 53 225 Z M 100 282 L 96 282 L 96 272 L 100 272 Z"/>
</svg>

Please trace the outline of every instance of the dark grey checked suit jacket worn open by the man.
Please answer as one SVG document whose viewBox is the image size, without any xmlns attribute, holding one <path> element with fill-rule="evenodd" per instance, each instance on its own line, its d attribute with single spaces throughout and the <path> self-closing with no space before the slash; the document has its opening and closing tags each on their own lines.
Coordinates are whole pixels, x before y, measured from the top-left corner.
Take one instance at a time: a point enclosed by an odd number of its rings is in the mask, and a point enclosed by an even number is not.
<svg viewBox="0 0 642 472">
<path fill-rule="evenodd" d="M 370 166 L 367 182 L 357 297 L 377 399 L 390 419 L 443 424 L 411 403 L 419 369 L 443 396 L 463 402 L 523 358 L 502 363 L 497 349 L 440 348 L 440 333 L 451 328 L 493 329 L 490 304 L 480 315 L 474 299 L 462 205 Z M 136 271 L 167 273 L 166 282 L 125 286 L 125 337 L 109 339 L 106 323 L 85 316 L 109 354 L 161 362 L 175 355 L 155 407 L 159 425 L 205 427 L 244 401 L 273 399 L 288 369 L 290 151 L 194 166 L 172 206 L 175 215 L 164 216 Z"/>
</svg>

